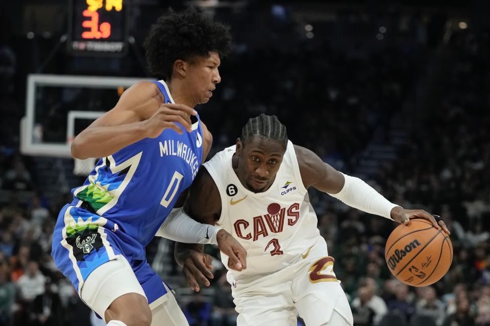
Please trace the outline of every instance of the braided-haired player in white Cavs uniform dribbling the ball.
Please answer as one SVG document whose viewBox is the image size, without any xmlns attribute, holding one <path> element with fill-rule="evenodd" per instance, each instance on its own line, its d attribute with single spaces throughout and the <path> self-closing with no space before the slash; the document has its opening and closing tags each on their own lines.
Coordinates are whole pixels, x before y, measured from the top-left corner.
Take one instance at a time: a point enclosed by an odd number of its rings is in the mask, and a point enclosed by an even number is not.
<svg viewBox="0 0 490 326">
<path fill-rule="evenodd" d="M 347 297 L 334 273 L 325 239 L 307 189 L 316 189 L 349 206 L 400 223 L 425 218 L 449 232 L 443 221 L 423 210 L 390 203 L 358 178 L 325 164 L 312 151 L 293 145 L 276 116 L 250 119 L 236 146 L 203 165 L 190 188 L 188 213 L 197 221 L 224 228 L 247 250 L 247 268 L 228 267 L 238 326 L 353 325 Z M 176 259 L 192 289 L 206 277 L 210 257 L 203 245 L 178 243 Z M 228 257 L 222 253 L 228 266 Z"/>
</svg>

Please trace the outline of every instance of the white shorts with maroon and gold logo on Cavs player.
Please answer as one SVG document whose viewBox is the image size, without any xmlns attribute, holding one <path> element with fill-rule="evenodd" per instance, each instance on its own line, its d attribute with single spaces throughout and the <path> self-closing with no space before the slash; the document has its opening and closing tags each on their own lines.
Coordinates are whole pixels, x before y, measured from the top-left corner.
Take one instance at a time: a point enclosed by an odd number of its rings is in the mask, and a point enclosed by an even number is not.
<svg viewBox="0 0 490 326">
<path fill-rule="evenodd" d="M 321 238 L 274 274 L 232 281 L 237 326 L 296 326 L 297 312 L 306 326 L 352 326 L 349 302 L 333 273 L 334 259 L 325 253 Z"/>
</svg>

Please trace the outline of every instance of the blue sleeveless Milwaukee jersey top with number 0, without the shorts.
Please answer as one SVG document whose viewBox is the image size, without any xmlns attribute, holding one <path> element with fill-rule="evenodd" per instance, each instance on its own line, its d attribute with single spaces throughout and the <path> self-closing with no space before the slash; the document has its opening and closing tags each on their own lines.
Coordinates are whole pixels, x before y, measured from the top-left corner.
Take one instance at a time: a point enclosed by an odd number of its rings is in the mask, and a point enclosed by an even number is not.
<svg viewBox="0 0 490 326">
<path fill-rule="evenodd" d="M 157 85 L 165 103 L 171 103 L 164 84 Z M 83 186 L 72 189 L 72 193 L 146 246 L 201 166 L 203 130 L 199 116 L 192 132 L 182 129 L 182 135 L 165 129 L 157 138 L 143 139 L 101 158 Z"/>
</svg>

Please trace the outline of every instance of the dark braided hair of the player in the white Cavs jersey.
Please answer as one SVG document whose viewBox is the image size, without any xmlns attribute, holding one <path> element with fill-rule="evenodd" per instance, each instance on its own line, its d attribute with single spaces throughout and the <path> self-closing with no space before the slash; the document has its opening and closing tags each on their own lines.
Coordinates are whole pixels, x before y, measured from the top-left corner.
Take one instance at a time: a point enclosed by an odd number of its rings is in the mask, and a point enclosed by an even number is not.
<svg viewBox="0 0 490 326">
<path fill-rule="evenodd" d="M 276 116 L 268 116 L 262 113 L 255 118 L 250 118 L 241 129 L 240 140 L 243 144 L 249 143 L 255 135 L 278 141 L 284 145 L 284 148 L 287 147 L 286 126 Z"/>
</svg>

